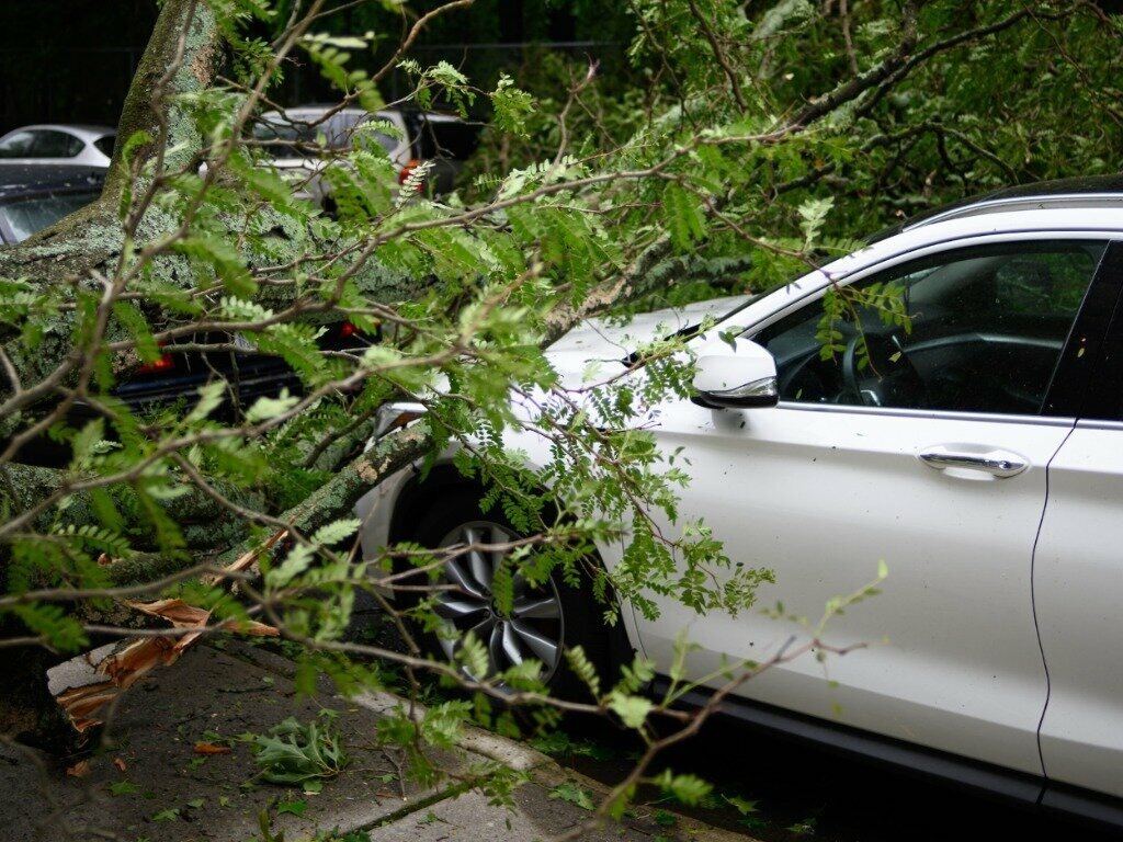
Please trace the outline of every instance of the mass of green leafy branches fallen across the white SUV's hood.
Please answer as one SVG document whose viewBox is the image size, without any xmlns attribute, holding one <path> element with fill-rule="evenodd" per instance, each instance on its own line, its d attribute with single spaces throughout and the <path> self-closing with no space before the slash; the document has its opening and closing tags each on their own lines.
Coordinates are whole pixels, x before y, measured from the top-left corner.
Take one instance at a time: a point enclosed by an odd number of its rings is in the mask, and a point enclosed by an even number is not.
<svg viewBox="0 0 1123 842">
<path fill-rule="evenodd" d="M 639 385 L 579 395 L 542 349 L 597 312 L 769 289 L 944 201 L 1114 172 L 1123 140 L 1123 18 L 1104 4 L 630 0 L 626 77 L 547 56 L 486 89 L 410 52 L 471 0 L 382 3 L 369 26 L 391 31 L 330 22 L 348 7 L 166 0 L 100 201 L 0 251 L 0 652 L 29 688 L 7 699 L 8 733 L 43 739 L 45 667 L 148 623 L 143 597 L 202 606 L 212 630 L 267 622 L 345 686 L 374 680 L 346 652 L 462 675 L 430 665 L 405 626 L 404 652 L 340 641 L 355 589 L 378 593 L 373 571 L 439 562 L 411 547 L 360 559 L 356 500 L 453 443 L 466 481 L 537 536 L 545 571 L 591 577 L 608 614 L 614 601 L 650 610 L 650 593 L 747 608 L 765 571 L 714 587 L 722 548 L 691 524 L 658 534 L 647 514 L 673 512 L 688 477 L 637 419 L 688 392 L 688 349 L 645 347 Z M 431 196 L 423 167 L 399 185 L 389 158 L 358 147 L 323 175 L 331 213 L 299 198 L 252 134 L 291 104 L 274 97 L 295 61 L 340 104 L 385 106 L 396 68 L 412 103 L 490 115 L 469 177 Z M 319 333 L 343 320 L 380 340 L 325 353 Z M 218 413 L 222 382 L 190 406 L 138 411 L 115 394 L 203 335 L 228 337 L 203 350 L 246 340 L 283 359 L 299 393 L 234 420 Z M 540 401 L 535 429 L 554 443 L 538 476 L 503 447 L 528 423 L 512 392 Z M 365 449 L 378 408 L 403 399 L 426 419 Z M 45 439 L 63 464 L 34 464 Z M 579 564 L 594 539 L 626 534 L 621 568 Z M 236 558 L 259 576 L 213 578 Z M 632 699 L 650 669 L 558 704 L 645 729 L 634 714 L 649 706 Z M 467 683 L 544 701 L 529 675 Z"/>
</svg>

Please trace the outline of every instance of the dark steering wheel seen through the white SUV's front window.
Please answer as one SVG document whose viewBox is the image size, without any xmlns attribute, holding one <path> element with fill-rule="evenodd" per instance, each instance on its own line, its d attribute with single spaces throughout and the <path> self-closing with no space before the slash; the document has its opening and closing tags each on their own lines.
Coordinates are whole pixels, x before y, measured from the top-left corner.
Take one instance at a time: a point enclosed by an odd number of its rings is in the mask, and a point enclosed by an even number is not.
<svg viewBox="0 0 1123 842">
<path fill-rule="evenodd" d="M 868 361 L 858 369 L 858 346 L 865 340 Z M 928 405 L 924 378 L 896 336 L 856 333 L 842 353 L 842 394 L 848 403 L 919 409 Z"/>
</svg>

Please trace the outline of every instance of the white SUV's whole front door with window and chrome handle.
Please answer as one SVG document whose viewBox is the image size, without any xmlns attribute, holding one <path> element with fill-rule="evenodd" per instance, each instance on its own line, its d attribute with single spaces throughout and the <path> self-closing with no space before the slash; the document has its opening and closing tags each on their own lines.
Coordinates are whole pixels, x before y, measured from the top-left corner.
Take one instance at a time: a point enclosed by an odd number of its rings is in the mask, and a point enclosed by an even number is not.
<svg viewBox="0 0 1123 842">
<path fill-rule="evenodd" d="M 658 620 L 638 620 L 646 653 L 668 663 L 685 629 L 700 647 L 687 675 L 711 686 L 730 661 L 779 657 L 739 693 L 1040 775 L 1031 562 L 1046 466 L 1074 425 L 1041 408 L 1103 249 L 1042 235 L 896 258 L 848 278 L 888 296 L 873 310 L 839 306 L 844 287 L 831 287 L 751 327 L 776 357 L 779 405 L 676 402 L 654 432 L 693 477 L 681 516 L 702 519 L 734 565 L 773 569 L 760 605 L 807 625 L 664 600 Z M 897 315 L 883 319 L 891 299 Z M 786 660 L 880 561 L 883 593 Z"/>
</svg>

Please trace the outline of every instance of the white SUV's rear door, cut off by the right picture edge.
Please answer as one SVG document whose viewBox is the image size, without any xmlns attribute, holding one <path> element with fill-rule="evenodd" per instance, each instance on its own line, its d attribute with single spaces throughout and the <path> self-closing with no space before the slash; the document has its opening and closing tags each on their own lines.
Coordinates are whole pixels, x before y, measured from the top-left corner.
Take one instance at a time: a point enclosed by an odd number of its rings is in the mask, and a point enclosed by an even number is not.
<svg viewBox="0 0 1123 842">
<path fill-rule="evenodd" d="M 1123 283 L 1123 244 L 1105 266 Z M 1116 286 L 1117 290 L 1117 286 Z M 1114 303 L 1114 299 L 1113 302 Z M 1105 314 L 1111 305 L 1103 308 Z M 1050 781 L 1123 796 L 1123 313 L 1116 312 L 1084 418 L 1049 465 L 1033 595 L 1049 702 L 1041 756 Z M 1051 793 L 1048 799 L 1070 797 Z"/>
</svg>

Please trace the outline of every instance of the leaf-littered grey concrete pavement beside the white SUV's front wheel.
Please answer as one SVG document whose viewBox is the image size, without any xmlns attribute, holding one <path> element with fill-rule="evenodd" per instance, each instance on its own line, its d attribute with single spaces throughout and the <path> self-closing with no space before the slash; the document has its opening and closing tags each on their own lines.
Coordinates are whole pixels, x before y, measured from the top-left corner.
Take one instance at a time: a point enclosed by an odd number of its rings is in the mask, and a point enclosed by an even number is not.
<svg viewBox="0 0 1123 842">
<path fill-rule="evenodd" d="M 442 752 L 439 765 L 465 774 L 489 761 L 527 772 L 514 809 L 449 780 L 419 789 L 402 779 L 400 759 L 377 745 L 376 727 L 399 704 L 389 696 L 347 701 L 325 693 L 298 699 L 292 661 L 261 647 L 230 641 L 199 646 L 170 668 L 154 670 L 120 701 L 106 729 L 108 745 L 88 758 L 81 775 L 17 745 L 0 745 L 0 839 L 4 842 L 249 842 L 265 839 L 259 816 L 280 842 L 448 842 L 531 840 L 564 834 L 590 818 L 570 802 L 550 797 L 572 781 L 600 785 L 560 768 L 528 747 L 473 730 L 464 751 Z M 77 670 L 81 672 L 81 670 Z M 77 684 L 75 670 L 53 679 Z M 263 734 L 289 716 L 310 722 L 323 708 L 350 765 L 321 793 L 249 784 L 257 772 L 250 743 L 230 738 Z M 198 743 L 229 745 L 204 754 Z M 674 827 L 641 816 L 581 835 L 585 840 L 745 842 L 748 838 L 681 818 Z"/>
</svg>

